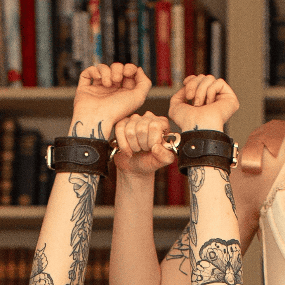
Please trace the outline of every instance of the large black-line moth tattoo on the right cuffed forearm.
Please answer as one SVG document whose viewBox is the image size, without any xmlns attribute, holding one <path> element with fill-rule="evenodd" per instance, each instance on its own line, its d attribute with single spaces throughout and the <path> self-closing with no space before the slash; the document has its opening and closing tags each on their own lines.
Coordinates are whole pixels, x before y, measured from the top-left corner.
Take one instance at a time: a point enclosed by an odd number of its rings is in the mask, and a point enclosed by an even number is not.
<svg viewBox="0 0 285 285">
<path fill-rule="evenodd" d="M 192 270 L 191 284 L 203 285 L 216 282 L 228 285 L 243 284 L 241 245 L 231 239 L 210 239 L 200 249 L 201 260 Z"/>
</svg>

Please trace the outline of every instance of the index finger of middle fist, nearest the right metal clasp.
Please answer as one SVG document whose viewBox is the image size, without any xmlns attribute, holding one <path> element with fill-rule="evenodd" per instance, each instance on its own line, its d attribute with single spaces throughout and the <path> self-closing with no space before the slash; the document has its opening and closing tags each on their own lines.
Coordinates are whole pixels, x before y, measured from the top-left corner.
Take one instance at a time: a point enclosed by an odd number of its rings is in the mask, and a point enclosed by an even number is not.
<svg viewBox="0 0 285 285">
<path fill-rule="evenodd" d="M 162 143 L 164 130 L 170 130 L 169 121 L 166 117 L 156 117 L 149 123 L 148 127 L 148 147 Z"/>
</svg>

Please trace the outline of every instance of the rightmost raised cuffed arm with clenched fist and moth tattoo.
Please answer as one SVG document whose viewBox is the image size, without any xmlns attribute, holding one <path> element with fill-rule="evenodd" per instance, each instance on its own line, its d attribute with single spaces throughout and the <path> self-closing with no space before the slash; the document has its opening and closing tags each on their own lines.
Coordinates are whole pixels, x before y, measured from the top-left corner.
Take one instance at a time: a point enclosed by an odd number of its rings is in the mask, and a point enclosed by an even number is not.
<svg viewBox="0 0 285 285">
<path fill-rule="evenodd" d="M 184 137 L 180 164 L 188 166 L 190 222 L 162 261 L 162 284 L 189 284 L 190 280 L 192 285 L 243 284 L 237 213 L 225 162 L 215 156 L 209 160 L 209 154 L 185 158 L 198 147 L 195 141 L 189 144 L 188 152 L 184 149 L 188 139 L 206 138 L 207 143 L 213 134 L 217 135 L 215 140 L 224 138 L 223 125 L 239 103 L 222 79 L 189 76 L 184 84 L 171 99 L 169 115 Z"/>
</svg>

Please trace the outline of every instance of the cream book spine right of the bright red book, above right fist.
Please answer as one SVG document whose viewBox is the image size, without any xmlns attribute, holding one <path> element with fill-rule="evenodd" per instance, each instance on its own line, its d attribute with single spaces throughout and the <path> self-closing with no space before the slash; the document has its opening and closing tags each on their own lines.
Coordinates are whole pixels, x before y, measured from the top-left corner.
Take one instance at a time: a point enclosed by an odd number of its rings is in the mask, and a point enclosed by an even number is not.
<svg viewBox="0 0 285 285">
<path fill-rule="evenodd" d="M 171 20 L 172 85 L 181 87 L 185 76 L 185 25 L 184 7 L 182 4 L 172 5 Z"/>
</svg>

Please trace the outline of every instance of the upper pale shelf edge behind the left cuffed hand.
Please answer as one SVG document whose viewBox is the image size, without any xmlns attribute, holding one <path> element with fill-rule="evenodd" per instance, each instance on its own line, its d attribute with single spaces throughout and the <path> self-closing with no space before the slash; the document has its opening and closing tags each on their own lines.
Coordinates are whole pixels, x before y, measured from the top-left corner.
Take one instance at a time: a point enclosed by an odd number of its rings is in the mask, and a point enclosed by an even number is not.
<svg viewBox="0 0 285 285">
<path fill-rule="evenodd" d="M 152 87 L 148 98 L 170 98 L 179 87 Z M 32 99 L 73 99 L 76 87 L 23 87 L 0 88 L 1 99 L 32 100 Z"/>
</svg>

